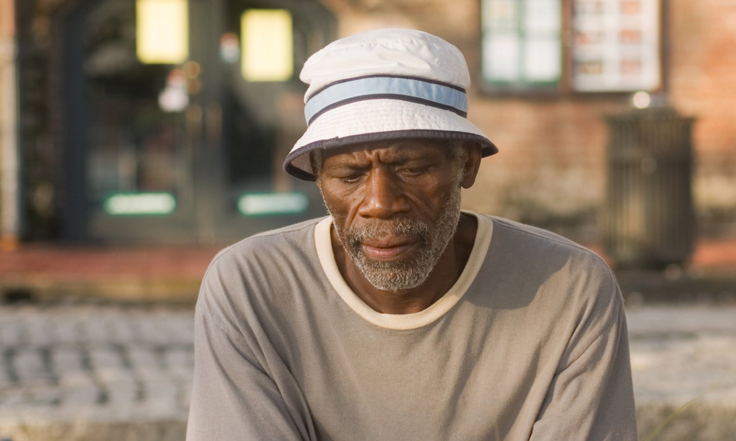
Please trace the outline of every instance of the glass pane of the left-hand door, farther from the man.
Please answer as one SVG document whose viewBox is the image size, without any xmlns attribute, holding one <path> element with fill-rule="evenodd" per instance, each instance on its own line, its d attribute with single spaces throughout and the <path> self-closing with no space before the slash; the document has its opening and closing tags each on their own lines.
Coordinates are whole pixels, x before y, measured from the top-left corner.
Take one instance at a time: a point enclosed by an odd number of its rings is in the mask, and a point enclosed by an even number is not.
<svg viewBox="0 0 736 441">
<path fill-rule="evenodd" d="M 158 48 L 157 58 L 146 59 L 155 60 L 153 65 L 138 62 L 141 34 L 127 32 L 141 25 L 141 4 L 155 4 L 155 9 L 175 3 L 99 1 L 86 19 L 85 89 L 80 102 L 86 102 L 88 115 L 85 197 L 96 212 L 171 214 L 189 188 L 185 176 L 191 165 L 185 148 L 183 113 L 160 106 L 166 90 L 186 87 L 183 73 L 163 65 L 163 48 Z M 186 1 L 181 4 L 186 6 Z M 160 17 L 155 21 L 161 21 Z M 188 26 L 186 22 L 183 25 Z M 172 29 L 169 26 L 171 23 L 163 28 Z M 110 35 L 119 37 L 110 43 Z M 188 98 L 185 89 L 179 91 L 184 99 Z M 176 107 L 177 111 L 183 110 L 185 104 Z"/>
</svg>

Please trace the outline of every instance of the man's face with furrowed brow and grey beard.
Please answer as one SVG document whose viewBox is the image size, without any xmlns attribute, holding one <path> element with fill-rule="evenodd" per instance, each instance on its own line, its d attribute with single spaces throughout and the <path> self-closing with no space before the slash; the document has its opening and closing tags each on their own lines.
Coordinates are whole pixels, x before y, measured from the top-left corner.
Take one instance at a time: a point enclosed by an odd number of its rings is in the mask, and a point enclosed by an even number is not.
<svg viewBox="0 0 736 441">
<path fill-rule="evenodd" d="M 317 179 L 340 243 L 379 290 L 428 278 L 460 217 L 463 163 L 446 141 L 364 143 L 325 157 Z"/>
</svg>

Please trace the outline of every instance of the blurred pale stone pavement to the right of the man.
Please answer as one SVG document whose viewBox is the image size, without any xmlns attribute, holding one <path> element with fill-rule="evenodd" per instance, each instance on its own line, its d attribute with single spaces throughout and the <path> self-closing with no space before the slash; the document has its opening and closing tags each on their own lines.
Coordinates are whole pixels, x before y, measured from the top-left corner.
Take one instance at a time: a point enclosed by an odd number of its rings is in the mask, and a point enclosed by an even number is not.
<svg viewBox="0 0 736 441">
<path fill-rule="evenodd" d="M 736 411 L 736 306 L 645 306 L 626 317 L 637 405 L 697 399 Z"/>
</svg>

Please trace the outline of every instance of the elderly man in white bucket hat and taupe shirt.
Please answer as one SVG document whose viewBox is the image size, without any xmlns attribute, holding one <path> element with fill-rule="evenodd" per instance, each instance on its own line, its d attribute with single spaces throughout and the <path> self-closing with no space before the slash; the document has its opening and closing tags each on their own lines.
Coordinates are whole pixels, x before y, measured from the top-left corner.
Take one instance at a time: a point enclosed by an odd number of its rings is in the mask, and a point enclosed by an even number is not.
<svg viewBox="0 0 736 441">
<path fill-rule="evenodd" d="M 222 251 L 197 304 L 188 440 L 634 440 L 609 268 L 460 209 L 497 149 L 466 118 L 454 46 L 380 29 L 301 78 L 285 170 L 328 218 Z"/>
</svg>

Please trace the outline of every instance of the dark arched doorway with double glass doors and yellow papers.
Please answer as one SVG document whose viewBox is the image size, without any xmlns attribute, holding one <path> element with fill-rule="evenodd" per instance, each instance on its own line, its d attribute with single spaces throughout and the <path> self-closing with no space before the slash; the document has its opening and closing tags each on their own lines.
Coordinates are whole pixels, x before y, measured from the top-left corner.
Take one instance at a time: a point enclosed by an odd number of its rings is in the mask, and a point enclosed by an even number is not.
<svg viewBox="0 0 736 441">
<path fill-rule="evenodd" d="M 146 62 L 145 1 L 77 1 L 60 18 L 64 237 L 224 243 L 322 215 L 314 184 L 280 162 L 305 126 L 299 68 L 333 39 L 332 15 L 316 1 L 180 0 L 187 56 Z M 278 39 L 292 70 L 248 71 L 253 44 Z"/>
</svg>

